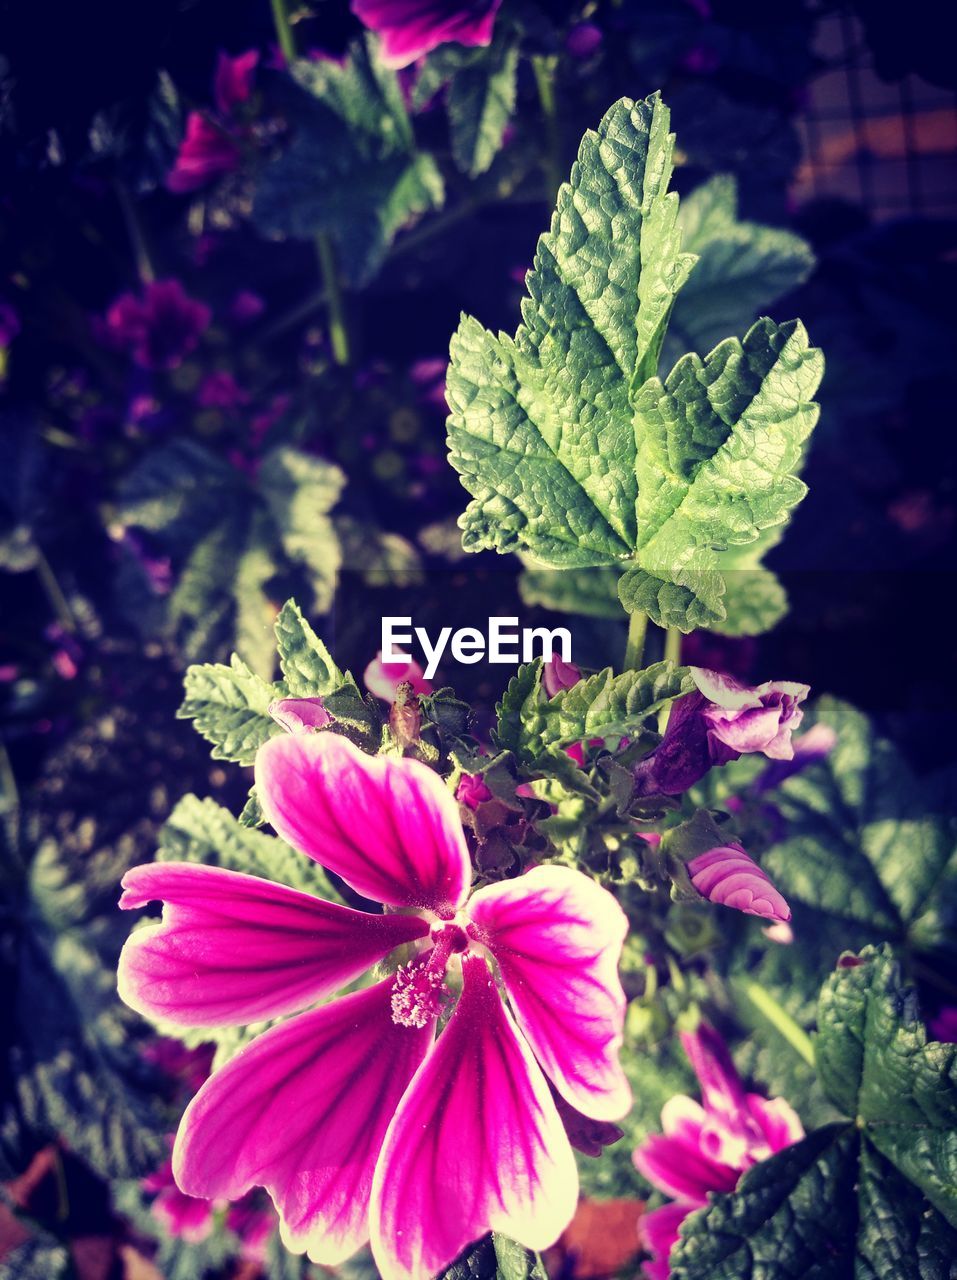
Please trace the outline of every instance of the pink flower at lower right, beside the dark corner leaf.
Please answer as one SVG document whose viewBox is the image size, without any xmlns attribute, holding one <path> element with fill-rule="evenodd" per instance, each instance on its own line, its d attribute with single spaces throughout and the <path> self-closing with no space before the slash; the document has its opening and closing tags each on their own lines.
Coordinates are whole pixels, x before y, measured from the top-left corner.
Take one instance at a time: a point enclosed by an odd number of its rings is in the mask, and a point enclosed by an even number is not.
<svg viewBox="0 0 957 1280">
<path fill-rule="evenodd" d="M 706 1023 L 683 1032 L 684 1052 L 701 1085 L 701 1103 L 677 1094 L 661 1111 L 663 1134 L 646 1138 L 635 1165 L 674 1203 L 645 1213 L 641 1243 L 652 1254 L 644 1266 L 649 1280 L 667 1280 L 668 1254 L 678 1228 L 710 1192 L 733 1192 L 738 1178 L 760 1160 L 803 1138 L 801 1120 L 783 1098 L 746 1093 L 728 1048 Z"/>
</svg>

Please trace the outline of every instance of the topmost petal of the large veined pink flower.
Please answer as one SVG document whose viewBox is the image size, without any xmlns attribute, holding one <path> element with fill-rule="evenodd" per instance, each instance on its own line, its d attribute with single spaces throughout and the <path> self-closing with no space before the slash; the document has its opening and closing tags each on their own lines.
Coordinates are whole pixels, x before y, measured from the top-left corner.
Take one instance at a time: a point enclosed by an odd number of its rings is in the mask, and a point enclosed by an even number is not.
<svg viewBox="0 0 957 1280">
<path fill-rule="evenodd" d="M 256 755 L 262 812 L 288 844 L 390 906 L 454 914 L 472 877 L 455 797 L 427 765 L 339 733 L 274 737 Z"/>
</svg>

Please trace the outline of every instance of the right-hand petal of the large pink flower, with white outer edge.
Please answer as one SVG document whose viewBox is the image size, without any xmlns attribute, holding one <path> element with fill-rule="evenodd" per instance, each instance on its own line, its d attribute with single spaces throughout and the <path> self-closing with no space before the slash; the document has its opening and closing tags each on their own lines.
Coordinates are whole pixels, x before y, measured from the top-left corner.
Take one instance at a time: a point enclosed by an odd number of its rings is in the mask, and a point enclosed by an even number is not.
<svg viewBox="0 0 957 1280">
<path fill-rule="evenodd" d="M 535 1056 L 562 1097 L 619 1120 L 631 1089 L 618 1061 L 624 992 L 618 959 L 628 920 L 612 895 L 568 867 L 536 867 L 468 902 L 502 970 Z"/>
</svg>

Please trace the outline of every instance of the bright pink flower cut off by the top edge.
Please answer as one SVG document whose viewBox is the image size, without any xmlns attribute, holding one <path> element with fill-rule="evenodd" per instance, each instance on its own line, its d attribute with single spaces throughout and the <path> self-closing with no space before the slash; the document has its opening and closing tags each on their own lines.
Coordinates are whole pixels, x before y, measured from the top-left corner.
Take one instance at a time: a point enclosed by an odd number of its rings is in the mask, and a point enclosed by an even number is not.
<svg viewBox="0 0 957 1280">
<path fill-rule="evenodd" d="M 502 0 L 352 0 L 352 12 L 383 38 L 385 67 L 408 67 L 439 45 L 490 45 Z"/>
</svg>

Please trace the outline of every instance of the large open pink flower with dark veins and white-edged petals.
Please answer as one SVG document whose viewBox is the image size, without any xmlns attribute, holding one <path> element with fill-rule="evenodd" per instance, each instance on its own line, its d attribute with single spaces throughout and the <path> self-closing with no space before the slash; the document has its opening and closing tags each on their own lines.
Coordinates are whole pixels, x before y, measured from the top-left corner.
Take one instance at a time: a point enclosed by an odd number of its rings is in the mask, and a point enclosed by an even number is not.
<svg viewBox="0 0 957 1280">
<path fill-rule="evenodd" d="M 207 1199 L 265 1187 L 285 1244 L 326 1265 L 371 1234 L 385 1280 L 432 1276 L 490 1229 L 550 1244 L 577 1175 L 546 1075 L 583 1115 L 629 1106 L 622 910 L 559 867 L 470 897 L 458 806 L 416 760 L 283 735 L 260 749 L 256 787 L 284 840 L 386 911 L 184 863 L 124 877 L 123 906 L 166 904 L 120 960 L 133 1009 L 201 1027 L 297 1014 L 193 1098 L 179 1187 Z M 398 947 L 390 977 L 299 1012 Z M 447 980 L 461 995 L 436 1041 Z"/>
</svg>

